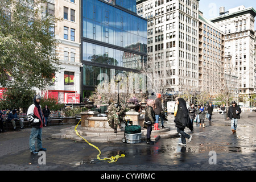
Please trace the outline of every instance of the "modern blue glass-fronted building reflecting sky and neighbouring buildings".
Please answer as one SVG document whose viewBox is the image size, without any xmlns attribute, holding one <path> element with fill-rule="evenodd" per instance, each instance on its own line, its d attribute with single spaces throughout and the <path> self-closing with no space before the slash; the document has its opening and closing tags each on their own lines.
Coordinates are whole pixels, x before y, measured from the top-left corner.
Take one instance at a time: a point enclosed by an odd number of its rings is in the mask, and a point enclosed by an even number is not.
<svg viewBox="0 0 256 182">
<path fill-rule="evenodd" d="M 147 56 L 147 20 L 136 0 L 82 0 L 81 89 L 93 91 L 100 73 L 137 72 Z"/>
</svg>

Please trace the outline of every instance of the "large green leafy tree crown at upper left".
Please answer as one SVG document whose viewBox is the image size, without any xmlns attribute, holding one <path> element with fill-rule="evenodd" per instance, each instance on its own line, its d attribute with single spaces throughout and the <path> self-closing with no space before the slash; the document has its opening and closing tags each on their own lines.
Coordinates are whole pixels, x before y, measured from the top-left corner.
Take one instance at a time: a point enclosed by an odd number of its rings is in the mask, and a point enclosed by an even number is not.
<svg viewBox="0 0 256 182">
<path fill-rule="evenodd" d="M 28 90 L 52 85 L 60 63 L 52 28 L 57 18 L 47 13 L 45 0 L 0 0 L 0 85 Z"/>
</svg>

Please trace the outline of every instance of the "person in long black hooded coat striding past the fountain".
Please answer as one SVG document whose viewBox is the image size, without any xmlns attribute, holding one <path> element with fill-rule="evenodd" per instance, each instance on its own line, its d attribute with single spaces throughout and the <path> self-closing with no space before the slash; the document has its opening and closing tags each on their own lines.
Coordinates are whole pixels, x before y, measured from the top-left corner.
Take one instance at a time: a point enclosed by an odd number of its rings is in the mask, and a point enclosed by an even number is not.
<svg viewBox="0 0 256 182">
<path fill-rule="evenodd" d="M 189 130 L 193 132 L 193 125 L 189 118 L 186 102 L 183 98 L 177 98 L 174 110 L 175 127 L 177 127 L 177 133 L 181 135 L 181 142 L 179 145 L 186 146 L 186 138 L 188 138 L 188 142 L 191 142 L 192 135 L 185 133 L 184 129 L 185 127 L 188 127 Z"/>
</svg>

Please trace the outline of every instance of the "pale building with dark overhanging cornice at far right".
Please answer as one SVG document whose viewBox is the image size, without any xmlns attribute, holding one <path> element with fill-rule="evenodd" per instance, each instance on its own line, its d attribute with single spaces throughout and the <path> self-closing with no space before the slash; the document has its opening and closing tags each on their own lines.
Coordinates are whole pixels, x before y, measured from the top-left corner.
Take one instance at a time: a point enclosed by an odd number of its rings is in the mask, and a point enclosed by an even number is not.
<svg viewBox="0 0 256 182">
<path fill-rule="evenodd" d="M 210 19 L 225 34 L 225 62 L 230 61 L 234 67 L 238 91 L 245 96 L 240 104 L 243 102 L 245 106 L 249 106 L 246 97 L 249 98 L 255 88 L 255 16 L 253 7 L 238 6 L 227 12 L 221 7 L 220 16 Z"/>
</svg>

